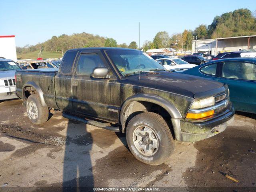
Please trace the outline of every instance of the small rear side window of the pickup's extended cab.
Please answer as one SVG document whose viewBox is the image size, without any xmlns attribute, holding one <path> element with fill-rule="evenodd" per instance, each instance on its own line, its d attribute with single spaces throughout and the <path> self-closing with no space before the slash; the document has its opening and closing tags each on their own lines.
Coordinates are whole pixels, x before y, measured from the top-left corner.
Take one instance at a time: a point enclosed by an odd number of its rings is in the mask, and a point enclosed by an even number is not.
<svg viewBox="0 0 256 192">
<path fill-rule="evenodd" d="M 61 69 L 60 73 L 62 75 L 72 75 L 72 66 L 74 64 L 74 60 L 76 58 L 76 54 L 78 51 L 68 51 L 66 52 L 62 64 L 61 64 Z"/>
</svg>

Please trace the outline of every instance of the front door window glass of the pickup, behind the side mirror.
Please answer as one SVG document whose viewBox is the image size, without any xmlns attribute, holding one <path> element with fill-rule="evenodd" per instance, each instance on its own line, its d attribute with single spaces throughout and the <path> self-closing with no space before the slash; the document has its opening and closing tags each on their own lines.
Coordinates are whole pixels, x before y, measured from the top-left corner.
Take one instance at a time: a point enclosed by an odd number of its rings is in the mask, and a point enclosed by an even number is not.
<svg viewBox="0 0 256 192">
<path fill-rule="evenodd" d="M 81 54 L 76 68 L 77 75 L 91 75 L 96 67 L 104 67 L 103 61 L 96 53 Z"/>
</svg>

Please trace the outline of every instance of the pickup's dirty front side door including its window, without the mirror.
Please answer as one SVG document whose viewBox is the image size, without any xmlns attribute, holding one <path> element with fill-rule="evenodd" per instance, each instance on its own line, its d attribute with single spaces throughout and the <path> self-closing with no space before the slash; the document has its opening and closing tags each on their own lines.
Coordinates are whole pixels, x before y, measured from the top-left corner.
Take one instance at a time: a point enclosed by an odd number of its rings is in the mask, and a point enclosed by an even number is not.
<svg viewBox="0 0 256 192">
<path fill-rule="evenodd" d="M 111 79 L 92 78 L 90 74 L 97 66 L 108 67 L 99 51 L 80 54 L 71 83 L 74 110 L 94 118 L 118 122 L 120 82 L 111 72 Z"/>
</svg>

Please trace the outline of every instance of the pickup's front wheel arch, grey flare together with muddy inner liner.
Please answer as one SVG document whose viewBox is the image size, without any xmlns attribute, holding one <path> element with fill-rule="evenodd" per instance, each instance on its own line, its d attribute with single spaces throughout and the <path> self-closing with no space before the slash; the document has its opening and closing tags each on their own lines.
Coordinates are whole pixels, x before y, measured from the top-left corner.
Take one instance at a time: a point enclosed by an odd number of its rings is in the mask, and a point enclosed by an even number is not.
<svg viewBox="0 0 256 192">
<path fill-rule="evenodd" d="M 171 118 L 182 118 L 182 115 L 174 106 L 174 104 L 170 103 L 164 98 L 154 94 L 137 94 L 127 98 L 126 101 L 122 104 L 120 111 L 120 123 L 122 124 L 122 132 L 125 132 L 127 120 L 131 114 L 136 114 L 136 112 L 138 114 L 140 112 L 147 111 L 147 106 L 145 103 L 160 106 L 166 110 L 166 112 L 168 112 Z"/>
</svg>

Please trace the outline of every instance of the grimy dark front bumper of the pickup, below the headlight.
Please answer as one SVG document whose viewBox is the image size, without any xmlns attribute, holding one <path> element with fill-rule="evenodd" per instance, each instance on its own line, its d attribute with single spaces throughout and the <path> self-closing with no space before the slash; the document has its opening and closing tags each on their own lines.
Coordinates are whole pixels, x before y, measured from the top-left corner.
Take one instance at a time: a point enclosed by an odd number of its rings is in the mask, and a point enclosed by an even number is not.
<svg viewBox="0 0 256 192">
<path fill-rule="evenodd" d="M 217 118 L 204 122 L 191 122 L 184 119 L 172 119 L 172 125 L 177 141 L 196 142 L 223 132 L 234 120 L 234 107 L 228 109 Z"/>
</svg>

